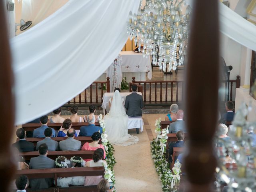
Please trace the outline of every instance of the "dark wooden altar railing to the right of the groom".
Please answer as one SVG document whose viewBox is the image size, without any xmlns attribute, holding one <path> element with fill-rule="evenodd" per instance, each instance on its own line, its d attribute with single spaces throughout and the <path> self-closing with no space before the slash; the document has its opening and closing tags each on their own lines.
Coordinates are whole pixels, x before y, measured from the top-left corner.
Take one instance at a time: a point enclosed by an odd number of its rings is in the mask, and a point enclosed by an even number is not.
<svg viewBox="0 0 256 192">
<path fill-rule="evenodd" d="M 227 88 L 226 83 L 222 83 Z M 133 77 L 130 84 L 142 86 L 142 90 L 139 90 L 139 92 L 143 94 L 145 105 L 170 105 L 170 103 L 178 103 L 183 100 L 183 81 L 136 81 L 135 77 Z M 235 100 L 234 87 L 240 87 L 239 75 L 236 76 L 236 80 L 230 80 L 230 101 Z"/>
</svg>

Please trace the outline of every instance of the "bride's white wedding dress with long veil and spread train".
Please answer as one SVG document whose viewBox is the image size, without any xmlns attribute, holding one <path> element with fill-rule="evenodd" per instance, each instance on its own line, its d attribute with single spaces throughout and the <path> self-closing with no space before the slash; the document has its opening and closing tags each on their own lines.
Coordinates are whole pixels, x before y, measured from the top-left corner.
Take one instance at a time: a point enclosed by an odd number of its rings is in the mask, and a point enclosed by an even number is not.
<svg viewBox="0 0 256 192">
<path fill-rule="evenodd" d="M 106 134 L 110 143 L 121 146 L 136 144 L 137 136 L 128 134 L 128 115 L 126 115 L 120 92 L 114 92 L 109 113 L 103 118 L 105 120 Z"/>
</svg>

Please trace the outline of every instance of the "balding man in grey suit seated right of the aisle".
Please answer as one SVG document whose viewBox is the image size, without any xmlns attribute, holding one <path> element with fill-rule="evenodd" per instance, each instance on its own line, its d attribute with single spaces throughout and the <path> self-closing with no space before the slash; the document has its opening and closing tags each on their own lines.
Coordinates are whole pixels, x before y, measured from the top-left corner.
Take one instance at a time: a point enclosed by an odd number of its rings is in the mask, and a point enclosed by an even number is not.
<svg viewBox="0 0 256 192">
<path fill-rule="evenodd" d="M 177 112 L 177 120 L 175 122 L 170 123 L 169 125 L 169 133 L 177 133 L 178 131 L 183 131 L 186 133 L 185 122 L 183 120 L 184 112 L 183 110 L 178 110 Z"/>
</svg>

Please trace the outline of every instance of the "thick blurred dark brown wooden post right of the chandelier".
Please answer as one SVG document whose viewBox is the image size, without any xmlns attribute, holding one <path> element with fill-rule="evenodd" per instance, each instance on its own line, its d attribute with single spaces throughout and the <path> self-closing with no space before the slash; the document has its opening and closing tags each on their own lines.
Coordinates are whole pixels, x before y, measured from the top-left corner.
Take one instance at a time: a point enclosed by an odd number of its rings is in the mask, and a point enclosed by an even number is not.
<svg viewBox="0 0 256 192">
<path fill-rule="evenodd" d="M 194 0 L 186 65 L 185 116 L 190 141 L 184 155 L 186 192 L 210 192 L 216 168 L 212 138 L 219 82 L 218 0 Z"/>
</svg>

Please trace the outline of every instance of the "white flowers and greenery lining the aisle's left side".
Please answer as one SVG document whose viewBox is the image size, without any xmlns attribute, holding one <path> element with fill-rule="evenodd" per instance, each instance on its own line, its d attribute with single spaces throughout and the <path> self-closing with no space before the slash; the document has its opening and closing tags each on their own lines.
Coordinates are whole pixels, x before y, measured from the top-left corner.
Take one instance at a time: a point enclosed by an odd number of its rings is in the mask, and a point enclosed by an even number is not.
<svg viewBox="0 0 256 192">
<path fill-rule="evenodd" d="M 102 127 L 101 142 L 105 148 L 106 162 L 108 164 L 108 166 L 104 166 L 105 168 L 104 178 L 108 180 L 108 182 L 113 182 L 113 185 L 115 185 L 116 180 L 115 180 L 113 167 L 116 164 L 116 160 L 114 157 L 114 147 L 107 139 L 108 135 L 106 134 L 105 121 L 102 118 L 102 114 L 99 115 L 99 124 Z"/>
</svg>

